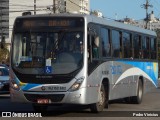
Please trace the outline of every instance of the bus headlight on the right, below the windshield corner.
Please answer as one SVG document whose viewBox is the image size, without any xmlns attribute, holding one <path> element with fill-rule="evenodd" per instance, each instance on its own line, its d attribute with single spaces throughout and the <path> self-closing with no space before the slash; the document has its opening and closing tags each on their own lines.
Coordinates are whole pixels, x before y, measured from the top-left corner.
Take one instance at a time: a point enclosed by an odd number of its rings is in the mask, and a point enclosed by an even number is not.
<svg viewBox="0 0 160 120">
<path fill-rule="evenodd" d="M 69 91 L 76 91 L 80 88 L 81 84 L 83 83 L 84 77 L 77 79 L 77 81 L 69 88 Z"/>
</svg>

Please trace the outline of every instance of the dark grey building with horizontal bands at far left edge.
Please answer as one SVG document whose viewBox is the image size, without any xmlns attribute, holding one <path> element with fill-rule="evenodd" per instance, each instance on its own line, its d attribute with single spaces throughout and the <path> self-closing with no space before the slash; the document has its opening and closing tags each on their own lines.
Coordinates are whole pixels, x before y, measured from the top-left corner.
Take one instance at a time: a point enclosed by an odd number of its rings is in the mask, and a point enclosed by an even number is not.
<svg viewBox="0 0 160 120">
<path fill-rule="evenodd" d="M 0 1 L 0 40 L 2 36 L 9 38 L 9 0 Z"/>
</svg>

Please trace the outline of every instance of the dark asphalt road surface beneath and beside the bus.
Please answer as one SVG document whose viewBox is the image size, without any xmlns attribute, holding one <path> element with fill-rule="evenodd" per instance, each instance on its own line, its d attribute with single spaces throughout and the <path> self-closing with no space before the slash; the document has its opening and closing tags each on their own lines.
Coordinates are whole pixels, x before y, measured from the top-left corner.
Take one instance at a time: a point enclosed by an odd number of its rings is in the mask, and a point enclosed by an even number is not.
<svg viewBox="0 0 160 120">
<path fill-rule="evenodd" d="M 35 113 L 31 104 L 12 103 L 9 95 L 0 95 L 0 113 Z M 143 115 L 143 116 L 142 116 Z M 111 101 L 109 108 L 100 114 L 90 113 L 87 106 L 50 106 L 42 117 L 160 117 L 160 88 L 153 89 L 143 97 L 141 104 L 128 104 L 124 100 Z"/>
</svg>

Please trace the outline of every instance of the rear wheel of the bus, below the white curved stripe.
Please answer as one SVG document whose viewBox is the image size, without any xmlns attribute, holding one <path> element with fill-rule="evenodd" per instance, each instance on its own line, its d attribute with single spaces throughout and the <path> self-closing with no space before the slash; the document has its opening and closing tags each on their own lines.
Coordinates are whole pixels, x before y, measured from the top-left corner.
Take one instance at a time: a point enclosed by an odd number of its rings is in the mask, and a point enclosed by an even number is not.
<svg viewBox="0 0 160 120">
<path fill-rule="evenodd" d="M 140 104 L 142 102 L 142 98 L 143 98 L 143 84 L 142 80 L 140 79 L 138 81 L 137 96 L 133 96 L 131 100 L 134 104 Z"/>
</svg>

